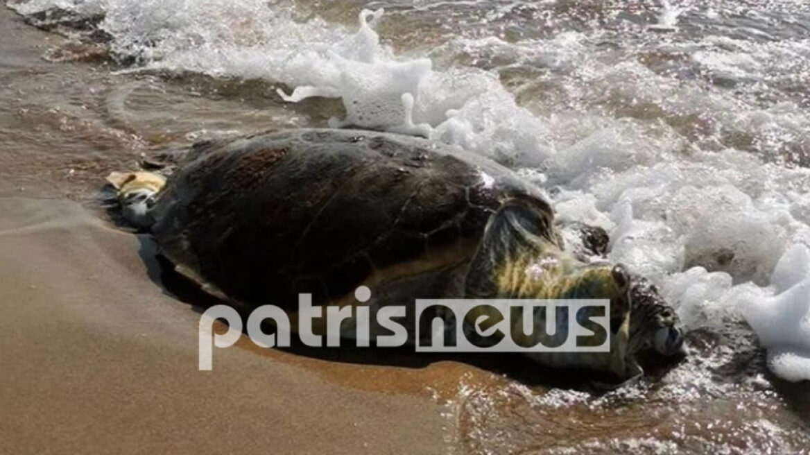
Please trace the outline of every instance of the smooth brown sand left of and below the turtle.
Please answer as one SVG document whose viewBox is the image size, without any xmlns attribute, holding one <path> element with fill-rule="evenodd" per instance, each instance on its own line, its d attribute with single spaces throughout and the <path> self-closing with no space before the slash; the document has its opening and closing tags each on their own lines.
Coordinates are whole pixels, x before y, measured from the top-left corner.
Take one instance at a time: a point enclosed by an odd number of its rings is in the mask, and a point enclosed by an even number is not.
<svg viewBox="0 0 810 455">
<path fill-rule="evenodd" d="M 58 36 L 3 8 L 0 30 L 0 78 L 75 71 L 40 60 L 33 43 Z M 424 398 L 239 347 L 198 372 L 198 311 L 151 281 L 151 252 L 94 207 L 104 168 L 129 156 L 83 156 L 100 173 L 67 178 L 75 155 L 42 162 L 36 131 L 2 133 L 0 453 L 446 452 L 442 408 Z"/>
</svg>

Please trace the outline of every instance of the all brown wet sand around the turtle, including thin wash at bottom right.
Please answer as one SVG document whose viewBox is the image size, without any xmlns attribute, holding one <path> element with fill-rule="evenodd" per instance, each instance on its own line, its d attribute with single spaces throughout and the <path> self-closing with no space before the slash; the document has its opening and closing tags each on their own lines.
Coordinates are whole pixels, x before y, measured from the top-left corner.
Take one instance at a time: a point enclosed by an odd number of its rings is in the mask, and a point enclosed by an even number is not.
<svg viewBox="0 0 810 455">
<path fill-rule="evenodd" d="M 559 374 L 531 364 L 510 378 L 475 362 L 266 350 L 245 337 L 198 372 L 200 310 L 161 287 L 147 236 L 113 226 L 103 177 L 206 130 L 323 125 L 335 104 L 282 104 L 257 81 L 45 62 L 64 39 L 2 8 L 0 30 L 0 453 L 810 448 L 805 385 L 763 377 L 755 349 L 714 365 L 711 342 L 669 381 L 603 398 L 549 393 L 544 375 Z"/>
</svg>

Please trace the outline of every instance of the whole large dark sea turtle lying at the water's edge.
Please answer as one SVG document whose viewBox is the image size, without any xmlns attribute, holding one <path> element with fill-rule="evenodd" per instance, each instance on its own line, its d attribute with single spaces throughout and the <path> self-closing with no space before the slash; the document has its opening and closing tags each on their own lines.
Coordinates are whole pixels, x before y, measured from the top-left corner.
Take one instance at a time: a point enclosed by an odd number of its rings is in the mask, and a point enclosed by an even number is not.
<svg viewBox="0 0 810 455">
<path fill-rule="evenodd" d="M 640 374 L 635 354 L 645 345 L 664 355 L 681 346 L 676 314 L 653 287 L 623 266 L 566 253 L 537 187 L 458 147 L 286 130 L 195 144 L 165 185 L 147 172 L 109 181 L 126 219 L 148 228 L 181 274 L 237 308 L 294 313 L 300 293 L 356 305 L 361 285 L 372 291 L 370 308 L 412 308 L 418 298 L 602 298 L 611 300 L 609 353 L 533 357 L 626 380 Z M 607 239 L 585 232 L 586 245 Z M 545 327 L 539 313 L 534 323 Z"/>
</svg>

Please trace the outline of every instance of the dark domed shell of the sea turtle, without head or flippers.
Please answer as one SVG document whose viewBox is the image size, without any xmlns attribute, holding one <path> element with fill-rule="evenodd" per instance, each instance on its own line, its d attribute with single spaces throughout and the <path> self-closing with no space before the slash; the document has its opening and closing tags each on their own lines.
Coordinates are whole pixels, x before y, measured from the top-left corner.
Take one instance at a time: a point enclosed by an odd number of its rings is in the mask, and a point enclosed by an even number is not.
<svg viewBox="0 0 810 455">
<path fill-rule="evenodd" d="M 192 147 L 153 208 L 162 253 L 258 306 L 468 262 L 489 217 L 539 189 L 457 147 L 360 130 L 287 130 Z M 423 288 L 427 289 L 427 288 Z M 440 296 L 422 296 L 440 297 Z"/>
</svg>

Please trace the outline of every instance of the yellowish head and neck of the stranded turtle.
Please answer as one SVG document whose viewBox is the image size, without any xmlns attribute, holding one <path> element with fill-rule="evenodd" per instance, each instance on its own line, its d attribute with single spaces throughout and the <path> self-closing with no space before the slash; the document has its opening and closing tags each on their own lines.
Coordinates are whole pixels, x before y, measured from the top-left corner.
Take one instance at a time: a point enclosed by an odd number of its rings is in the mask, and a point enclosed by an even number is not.
<svg viewBox="0 0 810 455">
<path fill-rule="evenodd" d="M 678 353 L 683 346 L 678 319 L 658 290 L 625 266 L 586 264 L 566 254 L 554 240 L 546 207 L 513 200 L 492 215 L 471 259 L 465 296 L 610 300 L 610 351 L 533 355 L 552 366 L 591 368 L 629 380 L 642 374 L 638 351 L 650 347 L 664 355 Z"/>
</svg>

